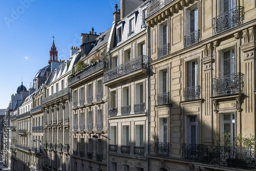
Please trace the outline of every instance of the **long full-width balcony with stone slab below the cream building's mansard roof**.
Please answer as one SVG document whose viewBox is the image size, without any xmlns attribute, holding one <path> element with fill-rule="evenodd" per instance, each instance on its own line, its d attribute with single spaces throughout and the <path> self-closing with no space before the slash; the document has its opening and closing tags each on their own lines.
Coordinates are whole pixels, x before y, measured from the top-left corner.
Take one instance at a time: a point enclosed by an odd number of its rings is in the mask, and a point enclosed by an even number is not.
<svg viewBox="0 0 256 171">
<path fill-rule="evenodd" d="M 103 82 L 108 82 L 123 76 L 118 80 L 115 80 L 106 84 L 107 86 L 111 86 L 115 83 L 120 83 L 120 81 L 129 80 L 137 76 L 146 74 L 146 68 L 147 68 L 147 56 L 142 55 L 142 56 L 136 57 L 135 59 L 129 60 L 113 69 L 105 71 L 103 75 Z"/>
</svg>

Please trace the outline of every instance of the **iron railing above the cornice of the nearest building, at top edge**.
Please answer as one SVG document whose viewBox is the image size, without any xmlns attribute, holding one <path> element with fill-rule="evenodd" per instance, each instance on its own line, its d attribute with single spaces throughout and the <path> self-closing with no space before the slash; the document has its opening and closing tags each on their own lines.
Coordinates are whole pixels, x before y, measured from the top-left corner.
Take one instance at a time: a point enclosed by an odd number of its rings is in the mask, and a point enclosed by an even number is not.
<svg viewBox="0 0 256 171">
<path fill-rule="evenodd" d="M 151 2 L 146 7 L 147 17 L 151 16 L 152 14 L 173 1 L 174 0 L 151 0 Z"/>
</svg>

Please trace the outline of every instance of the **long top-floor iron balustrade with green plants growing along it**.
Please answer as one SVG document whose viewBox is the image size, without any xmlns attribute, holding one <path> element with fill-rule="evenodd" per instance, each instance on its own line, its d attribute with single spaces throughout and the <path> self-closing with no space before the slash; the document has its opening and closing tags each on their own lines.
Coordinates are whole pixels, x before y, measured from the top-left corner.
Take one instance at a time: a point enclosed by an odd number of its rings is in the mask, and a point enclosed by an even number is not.
<svg viewBox="0 0 256 171">
<path fill-rule="evenodd" d="M 91 63 L 89 66 L 87 66 L 85 69 L 83 69 L 81 72 L 76 74 L 76 76 L 69 77 L 68 78 L 68 86 L 71 84 L 86 78 L 92 74 L 94 74 L 97 71 L 100 71 L 102 69 L 106 68 L 106 61 L 105 59 L 99 59 L 97 62 Z"/>
</svg>

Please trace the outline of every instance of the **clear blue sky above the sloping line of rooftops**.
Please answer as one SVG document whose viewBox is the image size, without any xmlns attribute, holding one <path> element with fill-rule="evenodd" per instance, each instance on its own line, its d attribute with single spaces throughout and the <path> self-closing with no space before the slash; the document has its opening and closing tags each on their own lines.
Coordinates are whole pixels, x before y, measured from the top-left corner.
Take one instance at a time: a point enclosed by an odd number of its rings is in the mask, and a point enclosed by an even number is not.
<svg viewBox="0 0 256 171">
<path fill-rule="evenodd" d="M 48 65 L 52 36 L 58 59 L 79 47 L 81 33 L 101 33 L 112 26 L 119 0 L 1 1 L 0 6 L 0 109 L 7 108 L 22 79 L 29 89 L 39 69 Z"/>
</svg>

